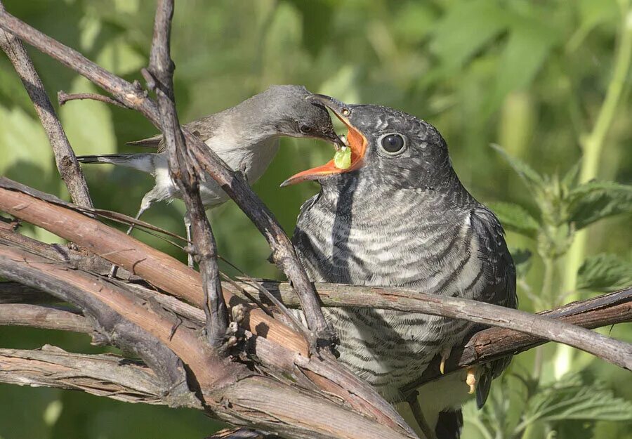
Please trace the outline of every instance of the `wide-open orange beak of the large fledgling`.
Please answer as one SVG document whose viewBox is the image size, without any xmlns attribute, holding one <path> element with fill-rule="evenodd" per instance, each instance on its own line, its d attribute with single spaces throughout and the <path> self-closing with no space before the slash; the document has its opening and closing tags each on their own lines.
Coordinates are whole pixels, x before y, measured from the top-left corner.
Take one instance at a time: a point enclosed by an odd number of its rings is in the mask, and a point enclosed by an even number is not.
<svg viewBox="0 0 632 439">
<path fill-rule="evenodd" d="M 329 110 L 331 110 L 331 112 L 333 112 L 347 127 L 348 148 L 351 149 L 351 166 L 347 169 L 340 169 L 336 166 L 336 164 L 334 164 L 334 160 L 331 159 L 322 166 L 317 166 L 315 168 L 308 169 L 307 171 L 294 174 L 294 176 L 291 176 L 281 183 L 282 188 L 284 186 L 294 185 L 295 183 L 301 183 L 301 181 L 318 180 L 319 178 L 329 176 L 331 174 L 350 172 L 358 169 L 362 165 L 364 152 L 367 151 L 367 138 L 364 137 L 364 135 L 355 129 L 355 127 L 349 122 L 348 116 L 351 114 L 349 107 L 341 103 L 339 100 L 324 95 L 312 95 L 308 96 L 307 99 L 317 100 L 319 103 L 329 108 Z"/>
</svg>

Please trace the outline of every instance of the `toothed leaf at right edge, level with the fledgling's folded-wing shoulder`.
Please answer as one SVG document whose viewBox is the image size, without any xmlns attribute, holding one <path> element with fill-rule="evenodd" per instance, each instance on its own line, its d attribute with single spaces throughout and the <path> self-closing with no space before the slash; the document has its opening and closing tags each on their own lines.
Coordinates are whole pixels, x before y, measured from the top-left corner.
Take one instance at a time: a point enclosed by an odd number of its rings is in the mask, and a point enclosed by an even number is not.
<svg viewBox="0 0 632 439">
<path fill-rule="evenodd" d="M 632 186 L 591 181 L 570 191 L 569 221 L 577 230 L 607 216 L 632 212 Z"/>
</svg>

